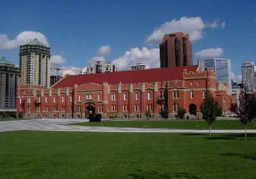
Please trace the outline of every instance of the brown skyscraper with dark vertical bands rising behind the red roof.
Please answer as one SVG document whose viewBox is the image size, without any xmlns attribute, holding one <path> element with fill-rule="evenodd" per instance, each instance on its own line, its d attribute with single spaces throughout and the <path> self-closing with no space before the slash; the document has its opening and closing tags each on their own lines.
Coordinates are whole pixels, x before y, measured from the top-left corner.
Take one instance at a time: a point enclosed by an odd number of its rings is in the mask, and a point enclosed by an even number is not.
<svg viewBox="0 0 256 179">
<path fill-rule="evenodd" d="M 193 65 L 192 43 L 189 34 L 176 32 L 165 34 L 160 43 L 160 66 L 191 66 Z"/>
</svg>

